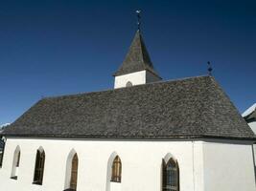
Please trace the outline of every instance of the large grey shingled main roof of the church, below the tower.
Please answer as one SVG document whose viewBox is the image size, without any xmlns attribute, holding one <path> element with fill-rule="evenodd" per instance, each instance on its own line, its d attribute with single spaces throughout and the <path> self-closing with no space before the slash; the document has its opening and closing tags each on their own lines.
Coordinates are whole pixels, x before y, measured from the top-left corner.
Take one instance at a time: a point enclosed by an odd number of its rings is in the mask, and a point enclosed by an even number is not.
<svg viewBox="0 0 256 191">
<path fill-rule="evenodd" d="M 211 76 L 44 98 L 4 133 L 67 138 L 255 138 Z"/>
</svg>

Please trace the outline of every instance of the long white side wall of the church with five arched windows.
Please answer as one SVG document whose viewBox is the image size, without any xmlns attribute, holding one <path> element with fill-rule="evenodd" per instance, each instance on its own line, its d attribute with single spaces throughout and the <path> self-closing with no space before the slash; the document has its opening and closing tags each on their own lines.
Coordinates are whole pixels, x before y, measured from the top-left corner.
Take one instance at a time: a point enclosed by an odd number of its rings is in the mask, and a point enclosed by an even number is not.
<svg viewBox="0 0 256 191">
<path fill-rule="evenodd" d="M 17 145 L 21 151 L 20 166 L 18 180 L 12 180 L 12 155 Z M 40 146 L 46 155 L 44 178 L 42 185 L 35 185 L 32 184 L 35 154 Z M 122 182 L 111 182 L 110 191 L 160 191 L 161 162 L 168 153 L 179 164 L 180 191 L 194 191 L 195 187 L 197 191 L 202 190 L 200 142 L 26 138 L 7 139 L 3 167 L 0 169 L 0 190 L 62 191 L 66 160 L 72 149 L 79 157 L 78 191 L 106 191 L 107 161 L 113 152 L 122 160 Z"/>
</svg>

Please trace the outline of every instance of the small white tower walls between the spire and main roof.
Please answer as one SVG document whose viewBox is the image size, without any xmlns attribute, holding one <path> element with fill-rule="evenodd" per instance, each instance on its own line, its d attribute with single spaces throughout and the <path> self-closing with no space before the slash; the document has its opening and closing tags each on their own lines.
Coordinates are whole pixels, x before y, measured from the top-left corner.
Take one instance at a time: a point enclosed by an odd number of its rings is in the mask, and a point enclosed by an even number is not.
<svg viewBox="0 0 256 191">
<path fill-rule="evenodd" d="M 128 81 L 132 83 L 133 86 L 151 83 L 155 81 L 159 81 L 160 79 L 151 74 L 148 71 L 140 71 L 131 74 L 123 74 L 115 77 L 115 85 L 114 88 L 124 88 L 127 86 Z"/>
</svg>

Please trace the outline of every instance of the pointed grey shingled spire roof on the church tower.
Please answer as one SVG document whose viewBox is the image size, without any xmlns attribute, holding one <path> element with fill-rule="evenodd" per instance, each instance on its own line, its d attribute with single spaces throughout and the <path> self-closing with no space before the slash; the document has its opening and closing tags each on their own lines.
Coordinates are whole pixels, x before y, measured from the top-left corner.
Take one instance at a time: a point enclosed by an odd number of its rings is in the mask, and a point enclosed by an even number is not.
<svg viewBox="0 0 256 191">
<path fill-rule="evenodd" d="M 161 78 L 153 68 L 151 57 L 146 49 L 141 32 L 138 30 L 135 33 L 132 43 L 128 49 L 125 60 L 118 71 L 113 75 L 131 74 L 144 70 Z"/>
</svg>

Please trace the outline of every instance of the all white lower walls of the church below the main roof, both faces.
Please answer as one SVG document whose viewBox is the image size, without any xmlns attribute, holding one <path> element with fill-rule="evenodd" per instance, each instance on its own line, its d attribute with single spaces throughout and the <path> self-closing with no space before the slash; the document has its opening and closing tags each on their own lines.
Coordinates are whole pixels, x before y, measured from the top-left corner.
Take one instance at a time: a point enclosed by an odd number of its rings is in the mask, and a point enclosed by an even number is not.
<svg viewBox="0 0 256 191">
<path fill-rule="evenodd" d="M 18 180 L 12 180 L 12 159 L 19 145 Z M 32 184 L 36 149 L 46 155 L 42 185 Z M 2 191 L 63 191 L 66 161 L 71 150 L 79 157 L 78 191 L 161 191 L 161 162 L 171 155 L 180 170 L 180 191 L 255 191 L 252 147 L 246 144 L 205 141 L 140 141 L 8 138 Z M 122 182 L 110 182 L 107 163 L 117 154 L 122 160 Z"/>
</svg>

